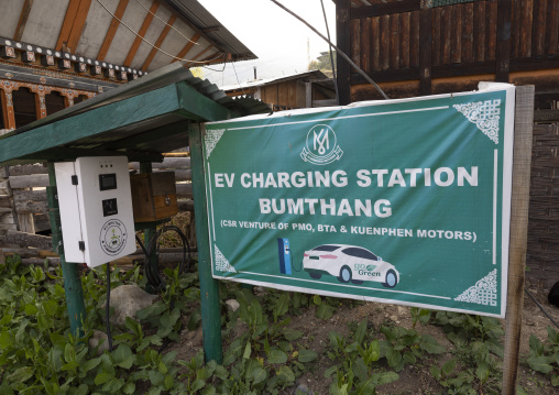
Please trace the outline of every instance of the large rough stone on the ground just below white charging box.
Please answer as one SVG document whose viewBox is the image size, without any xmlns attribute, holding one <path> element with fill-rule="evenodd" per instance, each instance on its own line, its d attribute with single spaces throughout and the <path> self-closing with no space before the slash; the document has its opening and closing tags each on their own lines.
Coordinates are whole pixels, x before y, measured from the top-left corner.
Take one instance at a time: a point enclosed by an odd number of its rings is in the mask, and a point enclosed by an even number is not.
<svg viewBox="0 0 559 395">
<path fill-rule="evenodd" d="M 135 284 L 111 289 L 110 307 L 114 309 L 110 321 L 123 326 L 127 317 L 135 319 L 135 312 L 153 304 L 157 295 L 147 294 Z M 102 305 L 105 308 L 106 304 Z"/>
</svg>

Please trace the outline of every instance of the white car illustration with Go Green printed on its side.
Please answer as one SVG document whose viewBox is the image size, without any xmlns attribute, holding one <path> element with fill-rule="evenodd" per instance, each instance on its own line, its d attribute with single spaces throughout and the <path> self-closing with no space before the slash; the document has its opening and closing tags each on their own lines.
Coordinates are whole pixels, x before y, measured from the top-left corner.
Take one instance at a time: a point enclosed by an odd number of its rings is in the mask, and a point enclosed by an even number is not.
<svg viewBox="0 0 559 395">
<path fill-rule="evenodd" d="M 369 281 L 382 283 L 387 288 L 399 283 L 399 273 L 394 265 L 357 245 L 324 244 L 305 251 L 303 268 L 315 279 L 328 274 L 338 277 L 340 283 Z"/>
</svg>

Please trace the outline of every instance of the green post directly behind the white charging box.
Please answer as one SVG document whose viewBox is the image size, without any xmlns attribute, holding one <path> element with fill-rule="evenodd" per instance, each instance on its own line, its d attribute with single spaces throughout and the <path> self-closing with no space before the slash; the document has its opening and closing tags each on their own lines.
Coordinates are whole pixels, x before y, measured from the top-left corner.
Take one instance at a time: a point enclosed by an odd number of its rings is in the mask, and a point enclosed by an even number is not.
<svg viewBox="0 0 559 395">
<path fill-rule="evenodd" d="M 80 337 L 84 334 L 81 330 L 81 322 L 86 319 L 84 289 L 81 288 L 81 278 L 79 276 L 78 263 L 66 262 L 64 256 L 61 211 L 58 207 L 54 163 L 50 162 L 47 166 L 48 180 L 51 184 L 51 186 L 47 188 L 48 218 L 51 219 L 51 229 L 53 232 L 53 250 L 61 255 L 62 273 L 64 276 L 64 290 L 66 292 L 66 305 L 68 308 L 72 334 Z"/>
</svg>

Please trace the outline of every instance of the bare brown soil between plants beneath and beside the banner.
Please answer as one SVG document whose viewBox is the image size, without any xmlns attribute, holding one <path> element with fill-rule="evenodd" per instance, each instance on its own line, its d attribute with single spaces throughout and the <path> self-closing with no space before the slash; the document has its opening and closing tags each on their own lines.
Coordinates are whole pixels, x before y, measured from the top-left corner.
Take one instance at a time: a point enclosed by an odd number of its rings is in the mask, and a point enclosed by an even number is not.
<svg viewBox="0 0 559 395">
<path fill-rule="evenodd" d="M 536 299 L 546 308 L 549 315 L 559 321 L 559 308 L 550 305 L 547 301 L 547 292 L 542 289 L 530 289 Z M 326 350 L 329 344 L 328 333 L 337 331 L 340 334 L 349 334 L 350 322 L 360 322 L 366 318 L 371 328 L 380 328 L 383 323 L 395 323 L 401 327 L 412 328 L 412 316 L 408 307 L 386 305 L 379 303 L 364 303 L 354 306 L 344 305 L 337 309 L 332 318 L 327 321 L 320 320 L 315 317 L 315 307 L 307 308 L 302 315 L 293 316 L 289 327 L 298 329 L 305 333 L 299 343 L 304 343 L 306 348 L 315 350 L 319 358 L 313 363 L 309 371 L 303 376 L 297 378 L 297 385 L 303 384 L 307 386 L 315 395 L 329 394 L 329 386 L 331 378 L 325 378 L 324 372 L 332 365 L 332 361 L 327 356 Z M 502 325 L 504 326 L 504 320 Z M 185 322 L 186 325 L 186 322 Z M 541 312 L 541 310 L 534 304 L 528 296 L 525 296 L 524 314 L 523 314 L 523 331 L 520 342 L 520 354 L 527 355 L 529 353 L 529 337 L 530 334 L 537 336 L 541 341 L 547 339 L 547 327 L 552 326 L 551 321 Z M 416 330 L 420 333 L 429 333 L 434 336 L 437 341 L 445 345 L 447 350 L 452 350 L 453 344 L 447 339 L 441 327 L 434 325 L 421 326 L 417 323 Z M 234 331 L 233 331 L 234 332 Z M 234 337 L 234 334 L 233 334 Z M 380 333 L 380 337 L 382 334 Z M 229 341 L 232 337 L 223 339 L 223 349 L 227 350 Z M 202 347 L 201 329 L 196 331 L 185 330 L 182 333 L 180 341 L 169 347 L 171 350 L 178 352 L 177 359 L 188 360 Z M 436 355 L 432 362 L 440 364 L 452 355 L 450 352 L 442 355 Z M 404 394 L 438 394 L 443 391 L 440 384 L 432 378 L 429 367 L 431 361 L 429 359 L 415 365 L 406 365 L 399 372 L 399 380 L 396 382 L 385 384 L 377 387 L 379 394 L 384 395 L 404 395 Z M 558 394 L 559 389 L 553 388 L 549 382 L 548 376 L 533 372 L 523 359 L 520 360 L 519 378 L 518 383 L 530 395 L 552 395 Z M 283 394 L 294 394 L 296 386 L 284 389 Z M 445 392 L 442 392 L 445 393 Z"/>
</svg>

